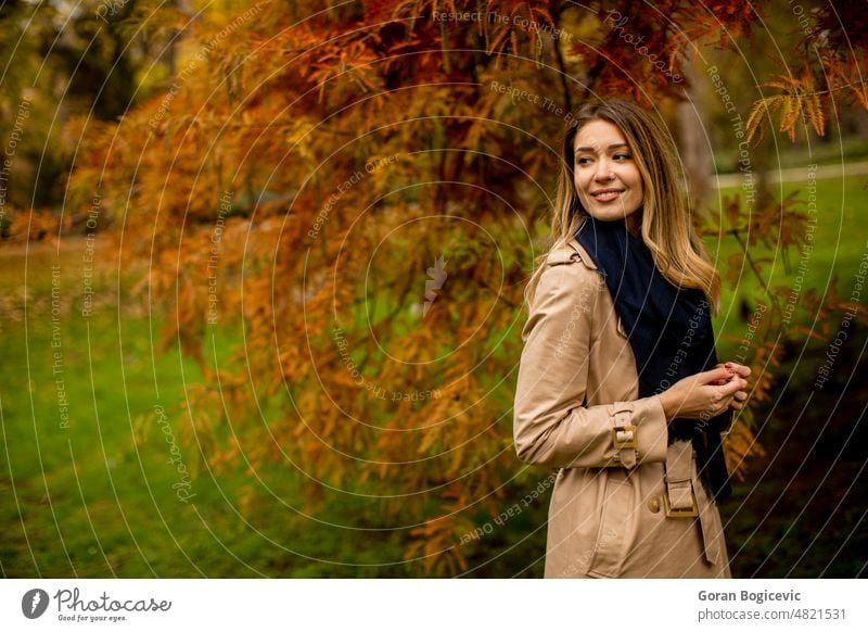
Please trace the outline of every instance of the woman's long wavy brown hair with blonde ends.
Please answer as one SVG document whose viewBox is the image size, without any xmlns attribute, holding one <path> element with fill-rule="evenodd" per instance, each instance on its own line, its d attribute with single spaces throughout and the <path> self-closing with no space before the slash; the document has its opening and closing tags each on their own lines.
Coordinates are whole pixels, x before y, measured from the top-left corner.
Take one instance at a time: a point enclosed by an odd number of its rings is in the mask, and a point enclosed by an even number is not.
<svg viewBox="0 0 868 632">
<path fill-rule="evenodd" d="M 644 190 L 642 206 L 637 211 L 641 213 L 642 240 L 656 268 L 676 287 L 704 291 L 712 313 L 716 314 L 720 309 L 720 277 L 693 227 L 675 143 L 663 126 L 635 103 L 618 99 L 586 103 L 567 125 L 561 149 L 549 252 L 573 239 L 588 217 L 575 187 L 574 143 L 582 126 L 591 121 L 612 123 L 627 140 Z M 528 309 L 547 256 L 548 252 L 537 257 L 536 269 L 525 288 Z"/>
</svg>

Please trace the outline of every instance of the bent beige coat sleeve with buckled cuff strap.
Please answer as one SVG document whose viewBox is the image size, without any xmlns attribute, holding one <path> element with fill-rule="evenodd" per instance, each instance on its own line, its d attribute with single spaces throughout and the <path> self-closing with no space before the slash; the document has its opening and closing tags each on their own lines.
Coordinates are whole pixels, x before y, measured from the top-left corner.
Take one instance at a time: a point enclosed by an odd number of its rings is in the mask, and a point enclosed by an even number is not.
<svg viewBox="0 0 868 632">
<path fill-rule="evenodd" d="M 513 409 L 515 451 L 556 468 L 635 467 L 666 459 L 660 396 L 586 406 L 599 273 L 546 263 L 522 331 Z"/>
</svg>

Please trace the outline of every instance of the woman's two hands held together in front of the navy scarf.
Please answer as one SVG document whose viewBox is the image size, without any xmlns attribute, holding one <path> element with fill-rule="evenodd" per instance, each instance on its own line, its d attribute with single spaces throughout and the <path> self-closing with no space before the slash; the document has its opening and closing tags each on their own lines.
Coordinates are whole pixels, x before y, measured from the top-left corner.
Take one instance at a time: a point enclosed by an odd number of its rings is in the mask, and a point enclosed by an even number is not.
<svg viewBox="0 0 868 632">
<path fill-rule="evenodd" d="M 726 363 L 677 381 L 660 394 L 666 419 L 710 419 L 728 408 L 740 410 L 748 399 L 749 375 L 746 366 Z"/>
</svg>

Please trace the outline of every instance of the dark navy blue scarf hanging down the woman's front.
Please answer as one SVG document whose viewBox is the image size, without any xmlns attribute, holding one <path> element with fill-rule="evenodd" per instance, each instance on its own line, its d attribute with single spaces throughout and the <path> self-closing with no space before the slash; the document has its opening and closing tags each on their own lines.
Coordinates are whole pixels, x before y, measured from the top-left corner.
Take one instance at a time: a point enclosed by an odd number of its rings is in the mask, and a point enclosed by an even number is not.
<svg viewBox="0 0 868 632">
<path fill-rule="evenodd" d="M 586 217 L 576 239 L 605 277 L 639 374 L 639 396 L 662 393 L 681 378 L 714 368 L 717 353 L 710 305 L 702 290 L 677 288 L 654 265 L 648 247 L 627 230 L 624 220 Z M 720 432 L 732 410 L 706 421 L 675 418 L 668 443 L 685 439 L 697 451 L 697 468 L 706 493 L 731 493 Z"/>
</svg>

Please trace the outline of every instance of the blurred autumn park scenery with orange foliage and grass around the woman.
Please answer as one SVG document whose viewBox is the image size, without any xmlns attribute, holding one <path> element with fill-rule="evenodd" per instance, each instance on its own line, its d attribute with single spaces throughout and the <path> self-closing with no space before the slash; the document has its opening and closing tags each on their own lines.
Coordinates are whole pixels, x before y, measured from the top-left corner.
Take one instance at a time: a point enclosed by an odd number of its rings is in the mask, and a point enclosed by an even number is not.
<svg viewBox="0 0 868 632">
<path fill-rule="evenodd" d="M 541 577 L 522 292 L 621 97 L 753 369 L 733 576 L 863 577 L 865 9 L 3 2 L 2 576 Z"/>
</svg>

